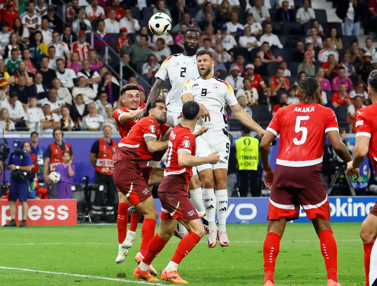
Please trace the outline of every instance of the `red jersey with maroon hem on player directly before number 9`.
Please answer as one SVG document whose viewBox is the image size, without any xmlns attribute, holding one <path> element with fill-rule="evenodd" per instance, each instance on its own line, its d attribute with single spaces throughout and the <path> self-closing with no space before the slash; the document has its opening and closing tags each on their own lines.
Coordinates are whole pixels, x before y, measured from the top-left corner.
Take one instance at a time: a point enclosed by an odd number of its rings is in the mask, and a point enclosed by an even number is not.
<svg viewBox="0 0 377 286">
<path fill-rule="evenodd" d="M 187 187 L 192 177 L 192 167 L 179 166 L 178 152 L 180 151 L 195 156 L 196 140 L 189 128 L 178 124 L 169 134 L 166 169 L 158 188 L 159 192 L 175 192 L 177 190 L 188 192 Z"/>
</svg>

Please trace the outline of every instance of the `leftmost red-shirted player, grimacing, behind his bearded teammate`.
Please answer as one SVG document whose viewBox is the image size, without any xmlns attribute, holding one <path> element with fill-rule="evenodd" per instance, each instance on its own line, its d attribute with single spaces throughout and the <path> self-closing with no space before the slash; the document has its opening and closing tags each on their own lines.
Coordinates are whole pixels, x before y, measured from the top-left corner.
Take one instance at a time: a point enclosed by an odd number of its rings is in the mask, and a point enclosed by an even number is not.
<svg viewBox="0 0 377 286">
<path fill-rule="evenodd" d="M 135 117 L 143 112 L 145 103 L 140 103 L 139 87 L 136 84 L 126 84 L 120 90 L 121 100 L 124 107 L 119 107 L 114 110 L 114 119 L 116 127 L 118 127 L 119 134 L 122 138 L 126 137 L 133 125 L 135 125 Z M 118 189 L 118 216 L 116 219 L 116 226 L 118 228 L 118 255 L 115 259 L 116 263 L 122 263 L 124 257 L 135 240 L 136 228 L 138 226 L 140 213 L 131 213 L 130 229 L 127 232 L 128 213 L 127 213 L 127 199 L 124 194 Z M 127 234 L 127 235 L 126 235 Z M 122 247 L 123 245 L 123 247 Z"/>
</svg>

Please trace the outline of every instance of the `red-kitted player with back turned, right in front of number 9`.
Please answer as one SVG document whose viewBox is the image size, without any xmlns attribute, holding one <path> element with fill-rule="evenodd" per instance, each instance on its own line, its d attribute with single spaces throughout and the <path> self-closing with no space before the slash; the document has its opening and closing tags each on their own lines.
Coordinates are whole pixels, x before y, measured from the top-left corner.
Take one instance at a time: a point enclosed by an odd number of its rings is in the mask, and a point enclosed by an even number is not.
<svg viewBox="0 0 377 286">
<path fill-rule="evenodd" d="M 172 238 L 173 225 L 176 226 L 180 221 L 189 227 L 190 232 L 179 242 L 172 259 L 162 271 L 161 278 L 173 283 L 188 283 L 179 276 L 178 265 L 205 234 L 199 219 L 204 212 L 199 213 L 195 209 L 189 196 L 188 187 L 192 177 L 192 167 L 207 163 L 216 164 L 220 159 L 218 151 L 207 157 L 195 156 L 196 141 L 192 132 L 200 118 L 199 110 L 197 102 L 187 101 L 182 107 L 182 123 L 176 125 L 170 132 L 166 170 L 158 187 L 158 197 L 161 200 L 160 228 L 150 240 L 143 261 L 133 272 L 133 276 L 138 279 L 157 281 L 149 273 L 149 267 Z"/>
</svg>

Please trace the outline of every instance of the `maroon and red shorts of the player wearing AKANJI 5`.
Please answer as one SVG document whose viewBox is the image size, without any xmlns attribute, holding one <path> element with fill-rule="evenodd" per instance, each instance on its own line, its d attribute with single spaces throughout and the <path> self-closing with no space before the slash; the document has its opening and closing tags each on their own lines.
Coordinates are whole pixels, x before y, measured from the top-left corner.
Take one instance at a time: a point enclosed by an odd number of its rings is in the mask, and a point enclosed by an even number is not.
<svg viewBox="0 0 377 286">
<path fill-rule="evenodd" d="M 308 219 L 320 217 L 330 219 L 330 205 L 326 188 L 320 184 L 314 188 L 277 188 L 272 187 L 267 219 L 299 218 L 300 205 Z"/>
</svg>

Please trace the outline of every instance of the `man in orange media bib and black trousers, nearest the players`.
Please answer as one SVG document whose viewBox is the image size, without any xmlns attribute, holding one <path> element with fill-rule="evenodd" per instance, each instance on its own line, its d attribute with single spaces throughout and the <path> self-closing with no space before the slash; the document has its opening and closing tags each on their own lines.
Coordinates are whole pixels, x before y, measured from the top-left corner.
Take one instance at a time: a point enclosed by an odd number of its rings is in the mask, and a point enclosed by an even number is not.
<svg viewBox="0 0 377 286">
<path fill-rule="evenodd" d="M 90 150 L 90 162 L 95 168 L 95 180 L 97 183 L 97 191 L 95 192 L 93 202 L 92 220 L 95 223 L 100 222 L 102 214 L 102 206 L 104 205 L 103 191 L 106 186 L 106 221 L 114 222 L 114 203 L 116 194 L 116 185 L 113 180 L 114 161 L 112 160 L 118 143 L 111 139 L 113 135 L 110 126 L 103 127 L 104 138 L 98 139 L 92 145 Z M 125 174 L 126 176 L 127 174 Z"/>
</svg>

